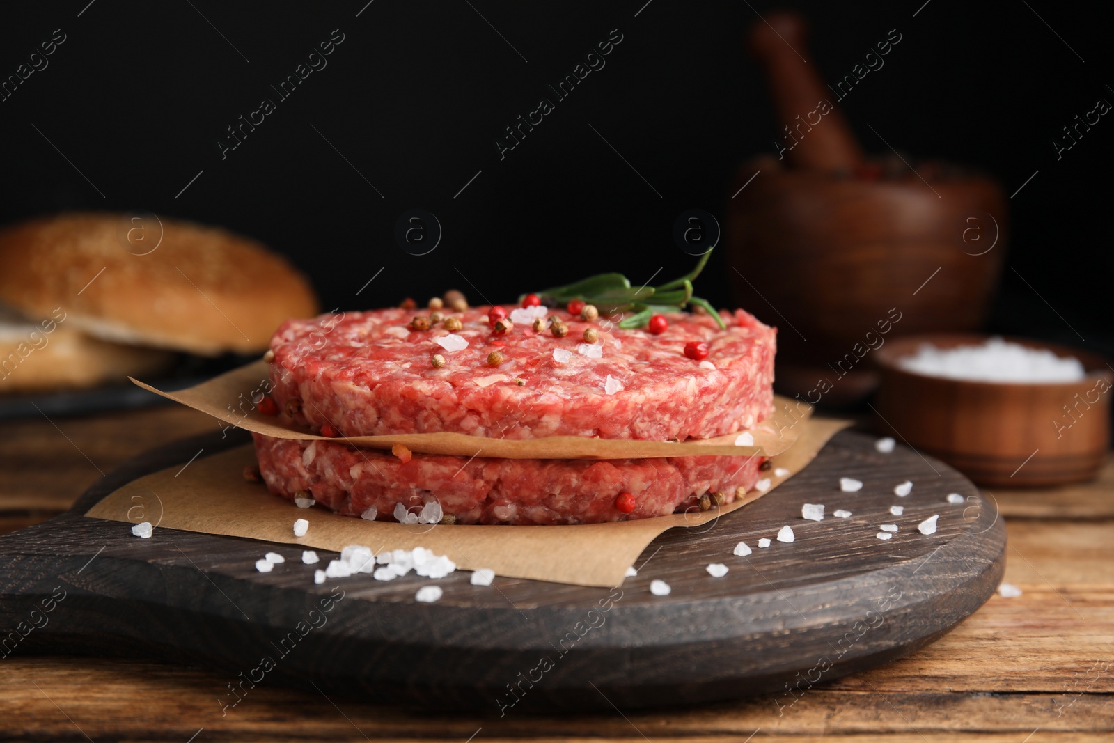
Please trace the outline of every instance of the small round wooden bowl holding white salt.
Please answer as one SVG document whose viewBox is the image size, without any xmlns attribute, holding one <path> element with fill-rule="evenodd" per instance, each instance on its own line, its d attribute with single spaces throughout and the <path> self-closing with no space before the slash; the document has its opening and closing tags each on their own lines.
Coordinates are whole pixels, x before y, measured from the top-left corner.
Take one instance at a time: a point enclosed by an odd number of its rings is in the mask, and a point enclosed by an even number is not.
<svg viewBox="0 0 1114 743">
<path fill-rule="evenodd" d="M 1079 382 L 1007 383 L 927 377 L 897 360 L 921 343 L 947 349 L 987 335 L 934 333 L 892 339 L 874 351 L 881 374 L 879 429 L 942 459 L 984 486 L 1045 487 L 1087 480 L 1110 448 L 1111 385 L 1106 361 L 1092 353 L 1017 338 L 1006 340 L 1075 356 Z"/>
</svg>

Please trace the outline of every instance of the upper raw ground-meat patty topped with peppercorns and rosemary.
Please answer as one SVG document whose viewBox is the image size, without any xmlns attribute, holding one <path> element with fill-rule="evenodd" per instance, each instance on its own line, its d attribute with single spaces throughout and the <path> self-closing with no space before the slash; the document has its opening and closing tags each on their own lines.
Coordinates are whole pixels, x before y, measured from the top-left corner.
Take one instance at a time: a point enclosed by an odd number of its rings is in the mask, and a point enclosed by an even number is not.
<svg viewBox="0 0 1114 743">
<path fill-rule="evenodd" d="M 328 421 L 341 436 L 455 431 L 508 439 L 684 440 L 751 428 L 773 410 L 776 331 L 742 310 L 723 313 L 726 330 L 710 316 L 671 313 L 661 335 L 550 310 L 568 325 L 559 339 L 535 332 L 528 320 L 496 335 L 488 310 L 446 313 L 463 322 L 455 335 L 468 348 L 458 351 L 436 342 L 450 334 L 443 324 L 410 330 L 410 321 L 426 312 L 290 320 L 271 340 L 273 397 L 295 422 L 320 430 Z M 506 310 L 511 314 L 514 307 Z M 584 344 L 589 326 L 599 340 Z M 706 360 L 684 355 L 690 341 L 707 343 Z M 497 368 L 488 364 L 492 351 L 504 356 Z M 563 362 L 564 352 L 569 355 Z M 442 369 L 431 363 L 437 353 L 447 361 Z"/>
</svg>

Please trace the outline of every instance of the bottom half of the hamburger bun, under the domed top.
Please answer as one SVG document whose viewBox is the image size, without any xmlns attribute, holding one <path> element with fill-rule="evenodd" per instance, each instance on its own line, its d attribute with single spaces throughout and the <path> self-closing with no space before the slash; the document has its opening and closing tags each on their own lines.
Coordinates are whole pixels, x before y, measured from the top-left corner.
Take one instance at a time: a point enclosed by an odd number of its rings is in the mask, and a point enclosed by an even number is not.
<svg viewBox="0 0 1114 743">
<path fill-rule="evenodd" d="M 84 389 L 168 369 L 175 354 L 89 338 L 62 312 L 31 322 L 0 309 L 0 394 Z"/>
</svg>

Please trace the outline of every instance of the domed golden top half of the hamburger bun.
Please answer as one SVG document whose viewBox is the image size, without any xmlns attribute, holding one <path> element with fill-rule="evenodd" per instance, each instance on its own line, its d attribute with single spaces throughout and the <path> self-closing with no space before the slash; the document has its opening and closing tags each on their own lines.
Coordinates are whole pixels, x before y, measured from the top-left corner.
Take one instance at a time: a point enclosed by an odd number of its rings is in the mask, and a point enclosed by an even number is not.
<svg viewBox="0 0 1114 743">
<path fill-rule="evenodd" d="M 153 214 L 72 213 L 0 232 L 0 302 L 67 330 L 202 355 L 255 353 L 319 313 L 309 281 L 262 244 Z"/>
</svg>

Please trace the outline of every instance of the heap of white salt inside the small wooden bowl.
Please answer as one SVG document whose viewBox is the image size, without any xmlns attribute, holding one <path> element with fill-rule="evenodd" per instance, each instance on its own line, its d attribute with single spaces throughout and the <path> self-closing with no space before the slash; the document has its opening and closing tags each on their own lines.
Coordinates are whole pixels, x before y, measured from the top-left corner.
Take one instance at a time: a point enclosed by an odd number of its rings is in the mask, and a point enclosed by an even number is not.
<svg viewBox="0 0 1114 743">
<path fill-rule="evenodd" d="M 952 349 L 921 343 L 916 354 L 898 359 L 898 365 L 918 374 L 980 382 L 1078 382 L 1086 377 L 1074 356 L 1062 359 L 1047 349 L 1000 338 Z"/>
</svg>

